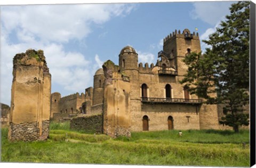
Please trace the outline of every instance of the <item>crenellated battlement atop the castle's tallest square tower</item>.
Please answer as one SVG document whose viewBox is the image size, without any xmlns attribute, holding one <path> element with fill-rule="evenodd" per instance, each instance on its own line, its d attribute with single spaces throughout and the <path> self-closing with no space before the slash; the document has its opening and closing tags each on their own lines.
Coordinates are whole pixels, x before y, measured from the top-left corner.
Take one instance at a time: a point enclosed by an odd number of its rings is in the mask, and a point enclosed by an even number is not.
<svg viewBox="0 0 256 168">
<path fill-rule="evenodd" d="M 174 38 L 199 39 L 199 34 L 198 32 L 195 33 L 195 31 L 193 32 L 193 34 L 190 34 L 189 29 L 184 29 L 182 33 L 180 30 L 175 30 L 164 38 L 164 43 L 166 43 L 167 41 L 172 41 L 172 39 Z"/>
</svg>

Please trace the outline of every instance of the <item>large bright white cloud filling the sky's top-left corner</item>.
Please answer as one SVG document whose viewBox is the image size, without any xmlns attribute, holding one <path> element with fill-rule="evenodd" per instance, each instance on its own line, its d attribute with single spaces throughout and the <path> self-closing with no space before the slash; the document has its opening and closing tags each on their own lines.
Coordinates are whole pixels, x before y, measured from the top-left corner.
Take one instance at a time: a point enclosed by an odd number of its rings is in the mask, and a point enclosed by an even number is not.
<svg viewBox="0 0 256 168">
<path fill-rule="evenodd" d="M 111 6 L 110 6 L 111 5 Z M 82 39 L 91 33 L 91 24 L 102 24 L 111 17 L 126 15 L 134 5 L 74 4 L 26 5 L 1 7 L 3 28 L 11 33 L 20 29 L 42 41 L 68 42 Z M 24 38 L 19 38 L 21 41 Z"/>
</svg>

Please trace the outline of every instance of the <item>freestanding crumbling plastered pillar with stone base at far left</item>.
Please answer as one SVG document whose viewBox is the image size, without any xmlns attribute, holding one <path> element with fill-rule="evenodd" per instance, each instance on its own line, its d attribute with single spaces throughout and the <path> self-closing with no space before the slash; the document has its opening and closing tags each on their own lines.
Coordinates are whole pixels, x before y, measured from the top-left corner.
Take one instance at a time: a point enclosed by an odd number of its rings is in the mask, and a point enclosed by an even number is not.
<svg viewBox="0 0 256 168">
<path fill-rule="evenodd" d="M 13 58 L 13 82 L 8 138 L 46 140 L 49 135 L 51 74 L 42 50 L 27 50 Z"/>
</svg>

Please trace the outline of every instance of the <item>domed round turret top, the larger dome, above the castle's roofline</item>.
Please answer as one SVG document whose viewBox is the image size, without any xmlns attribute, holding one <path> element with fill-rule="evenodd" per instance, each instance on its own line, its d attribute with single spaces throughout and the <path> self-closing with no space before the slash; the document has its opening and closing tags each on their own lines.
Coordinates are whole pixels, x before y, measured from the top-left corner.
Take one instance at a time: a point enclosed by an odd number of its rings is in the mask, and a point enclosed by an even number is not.
<svg viewBox="0 0 256 168">
<path fill-rule="evenodd" d="M 138 69 L 138 54 L 131 46 L 124 47 L 119 54 L 119 67 L 124 69 Z"/>
</svg>

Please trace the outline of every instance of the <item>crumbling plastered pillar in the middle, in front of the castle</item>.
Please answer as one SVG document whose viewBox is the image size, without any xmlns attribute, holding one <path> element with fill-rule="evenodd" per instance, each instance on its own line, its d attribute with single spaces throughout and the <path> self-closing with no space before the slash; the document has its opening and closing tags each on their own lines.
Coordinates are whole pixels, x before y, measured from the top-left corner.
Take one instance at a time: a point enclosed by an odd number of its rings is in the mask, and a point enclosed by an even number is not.
<svg viewBox="0 0 256 168">
<path fill-rule="evenodd" d="M 130 82 L 110 60 L 102 66 L 105 74 L 103 133 L 110 137 L 131 136 Z"/>
</svg>

